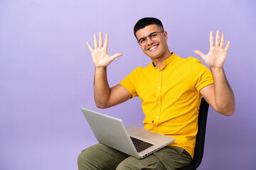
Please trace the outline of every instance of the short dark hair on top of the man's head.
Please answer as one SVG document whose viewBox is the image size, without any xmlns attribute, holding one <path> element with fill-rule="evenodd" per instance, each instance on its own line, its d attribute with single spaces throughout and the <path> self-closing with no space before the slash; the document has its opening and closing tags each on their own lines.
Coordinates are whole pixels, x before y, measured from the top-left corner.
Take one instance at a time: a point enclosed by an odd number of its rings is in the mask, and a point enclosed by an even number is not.
<svg viewBox="0 0 256 170">
<path fill-rule="evenodd" d="M 164 26 L 161 21 L 157 18 L 142 18 L 140 19 L 134 26 L 134 36 L 136 37 L 136 33 L 138 30 L 144 28 L 145 26 L 149 26 L 151 24 L 156 24 L 156 26 L 160 26 L 164 30 Z M 137 37 L 136 37 L 137 38 Z"/>
</svg>

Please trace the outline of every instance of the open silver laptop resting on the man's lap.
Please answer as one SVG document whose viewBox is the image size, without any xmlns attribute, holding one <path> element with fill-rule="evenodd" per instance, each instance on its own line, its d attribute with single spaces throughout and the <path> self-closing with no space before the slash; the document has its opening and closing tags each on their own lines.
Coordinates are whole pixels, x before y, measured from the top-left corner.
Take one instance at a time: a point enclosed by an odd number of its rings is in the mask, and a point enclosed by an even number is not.
<svg viewBox="0 0 256 170">
<path fill-rule="evenodd" d="M 90 111 L 86 108 L 81 108 L 81 110 L 98 142 L 132 157 L 142 159 L 174 142 L 173 137 L 134 125 L 125 128 L 122 120 L 110 115 Z"/>
</svg>

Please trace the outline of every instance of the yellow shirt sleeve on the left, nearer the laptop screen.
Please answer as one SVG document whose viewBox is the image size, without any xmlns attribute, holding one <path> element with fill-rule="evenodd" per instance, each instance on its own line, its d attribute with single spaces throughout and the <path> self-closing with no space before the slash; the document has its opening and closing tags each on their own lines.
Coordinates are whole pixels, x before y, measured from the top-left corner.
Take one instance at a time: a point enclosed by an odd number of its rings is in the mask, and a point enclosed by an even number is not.
<svg viewBox="0 0 256 170">
<path fill-rule="evenodd" d="M 136 88 L 135 88 L 135 76 L 136 75 L 136 69 L 132 73 L 130 73 L 125 79 L 123 79 L 119 84 L 124 86 L 125 89 L 129 91 L 130 94 L 132 94 L 132 98 L 137 96 Z"/>
</svg>

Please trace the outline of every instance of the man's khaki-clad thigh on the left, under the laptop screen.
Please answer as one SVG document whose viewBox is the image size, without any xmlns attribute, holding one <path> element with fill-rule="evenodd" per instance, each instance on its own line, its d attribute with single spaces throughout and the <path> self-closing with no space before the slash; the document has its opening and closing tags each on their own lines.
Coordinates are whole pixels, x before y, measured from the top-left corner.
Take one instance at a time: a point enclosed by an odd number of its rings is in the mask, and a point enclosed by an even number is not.
<svg viewBox="0 0 256 170">
<path fill-rule="evenodd" d="M 128 156 L 106 145 L 97 144 L 83 150 L 78 157 L 78 169 L 116 169 Z"/>
</svg>

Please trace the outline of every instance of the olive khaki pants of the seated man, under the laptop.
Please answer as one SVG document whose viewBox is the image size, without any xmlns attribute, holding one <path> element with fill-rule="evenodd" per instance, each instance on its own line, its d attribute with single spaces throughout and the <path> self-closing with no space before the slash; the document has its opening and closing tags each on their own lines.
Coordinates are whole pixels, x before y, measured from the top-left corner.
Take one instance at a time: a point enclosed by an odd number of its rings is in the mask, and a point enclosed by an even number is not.
<svg viewBox="0 0 256 170">
<path fill-rule="evenodd" d="M 79 170 L 138 170 L 138 169 L 177 169 L 191 164 L 191 156 L 181 147 L 164 147 L 154 154 L 137 159 L 106 145 L 97 144 L 83 150 L 78 157 Z"/>
</svg>

